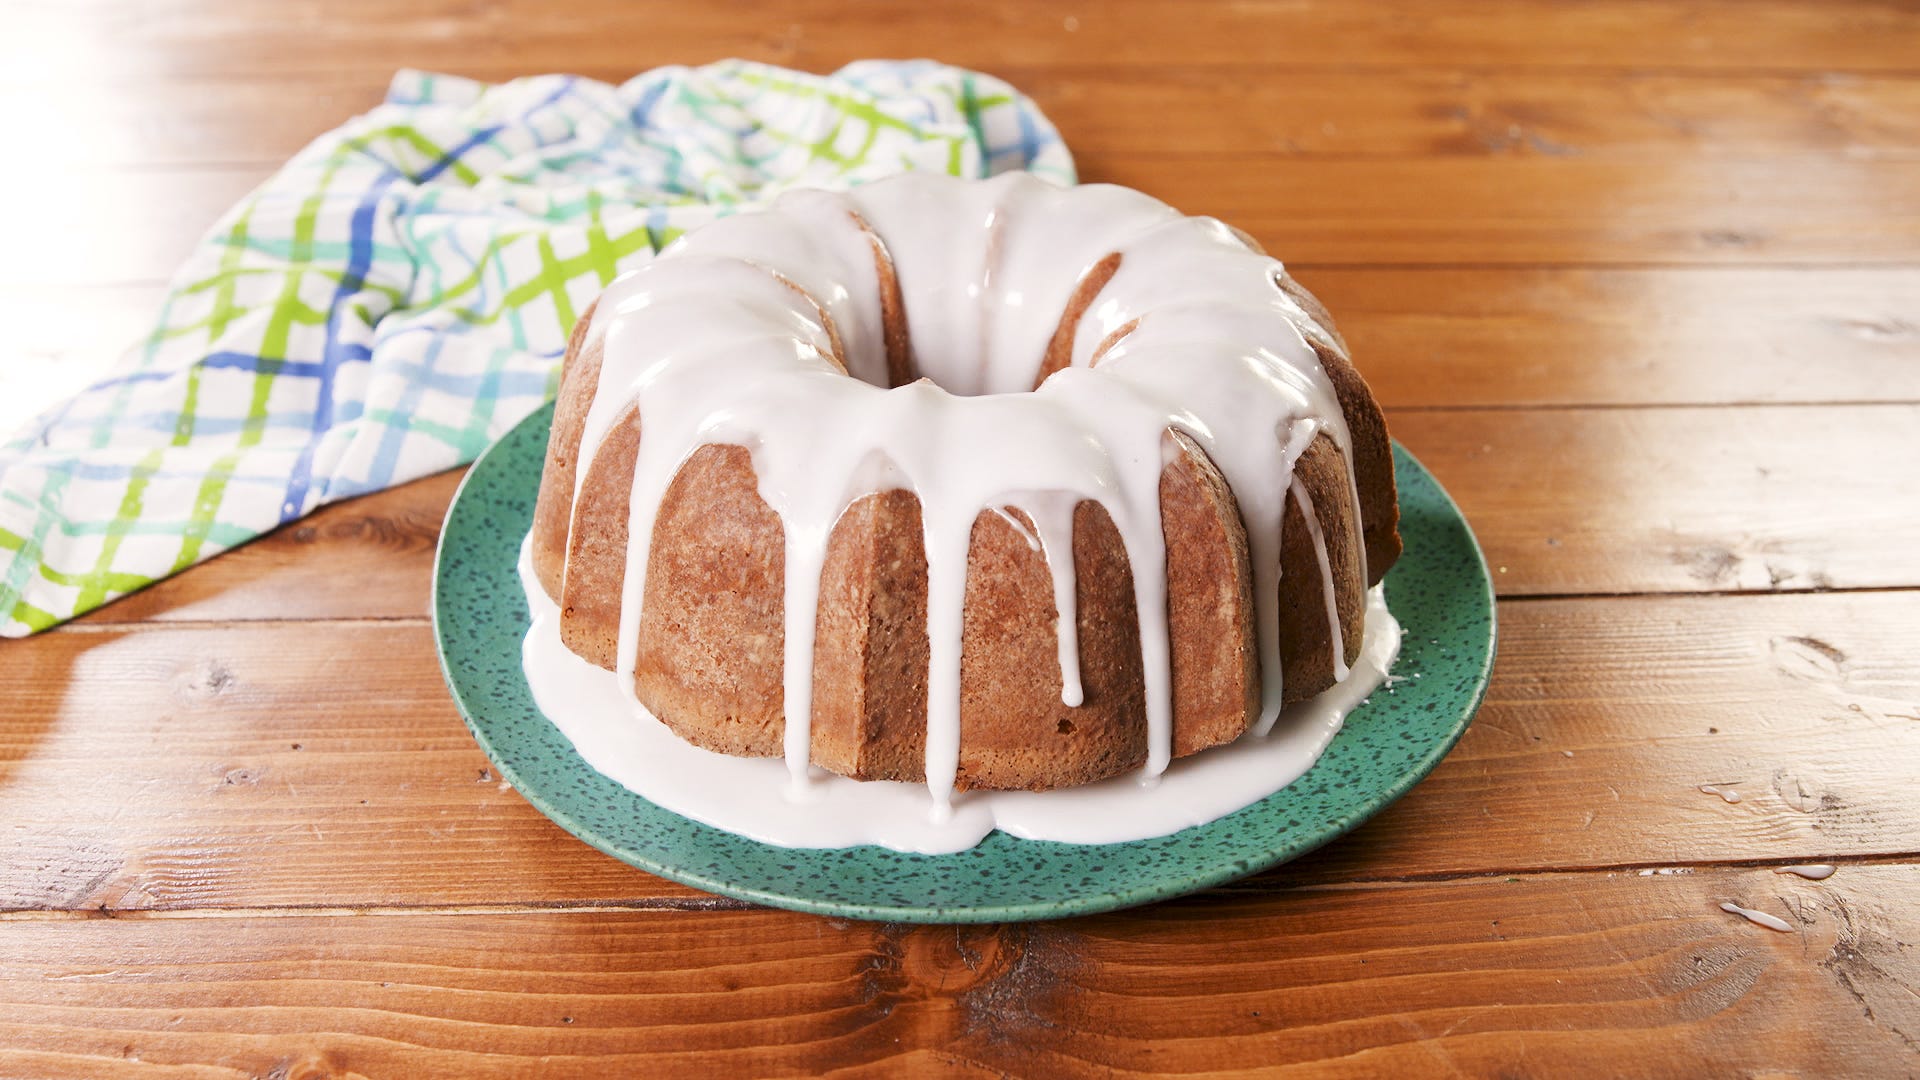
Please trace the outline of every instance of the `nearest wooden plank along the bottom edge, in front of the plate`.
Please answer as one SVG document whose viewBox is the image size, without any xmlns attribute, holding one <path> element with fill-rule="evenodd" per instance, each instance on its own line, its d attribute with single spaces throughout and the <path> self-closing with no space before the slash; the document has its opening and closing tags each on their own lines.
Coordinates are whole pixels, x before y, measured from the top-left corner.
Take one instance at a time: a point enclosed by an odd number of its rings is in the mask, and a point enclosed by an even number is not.
<svg viewBox="0 0 1920 1080">
<path fill-rule="evenodd" d="M 0 957 L 0 1070 L 1864 1076 L 1920 1043 L 1916 909 L 1914 867 L 1845 867 L 1233 892 L 962 930 L 69 919 Z"/>
</svg>

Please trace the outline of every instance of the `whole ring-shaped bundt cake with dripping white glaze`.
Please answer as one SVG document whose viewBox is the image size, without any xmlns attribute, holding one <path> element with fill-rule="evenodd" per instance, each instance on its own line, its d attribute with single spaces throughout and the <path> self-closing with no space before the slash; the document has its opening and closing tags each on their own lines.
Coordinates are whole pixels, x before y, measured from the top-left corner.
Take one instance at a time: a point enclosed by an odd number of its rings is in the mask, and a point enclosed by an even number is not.
<svg viewBox="0 0 1920 1080">
<path fill-rule="evenodd" d="M 684 740 L 1046 790 L 1263 732 L 1400 553 L 1380 411 L 1250 236 L 1025 173 L 795 190 L 614 281 L 528 538 Z"/>
</svg>

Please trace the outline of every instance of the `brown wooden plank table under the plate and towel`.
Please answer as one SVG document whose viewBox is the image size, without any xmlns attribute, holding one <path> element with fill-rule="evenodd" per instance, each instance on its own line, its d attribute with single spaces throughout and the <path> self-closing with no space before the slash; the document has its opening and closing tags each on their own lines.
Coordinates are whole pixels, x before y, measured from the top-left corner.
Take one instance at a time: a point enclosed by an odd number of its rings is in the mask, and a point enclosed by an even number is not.
<svg viewBox="0 0 1920 1080">
<path fill-rule="evenodd" d="M 1411 796 L 1236 886 L 764 911 L 490 773 L 434 663 L 434 477 L 0 646 L 0 1074 L 1920 1072 L 1910 6 L 321 8 L 4 8 L 6 144 L 44 150 L 0 179 L 10 361 L 132 338 L 399 65 L 939 52 L 1298 267 L 1486 546 L 1492 692 Z"/>
</svg>

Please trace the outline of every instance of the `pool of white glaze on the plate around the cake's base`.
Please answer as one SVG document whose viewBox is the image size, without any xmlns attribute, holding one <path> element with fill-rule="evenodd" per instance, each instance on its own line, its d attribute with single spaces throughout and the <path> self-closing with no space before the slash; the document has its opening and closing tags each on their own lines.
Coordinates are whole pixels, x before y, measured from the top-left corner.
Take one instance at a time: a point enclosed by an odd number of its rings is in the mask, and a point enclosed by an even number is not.
<svg viewBox="0 0 1920 1080">
<path fill-rule="evenodd" d="M 728 757 L 680 740 L 645 709 L 630 711 L 618 676 L 566 651 L 559 607 L 520 552 L 520 584 L 534 615 L 522 644 L 534 701 L 614 782 L 682 817 L 783 847 L 879 844 L 897 851 L 964 851 L 998 828 L 1027 840 L 1117 844 L 1167 836 L 1248 807 L 1300 778 L 1371 694 L 1400 650 L 1384 594 L 1369 592 L 1367 636 L 1354 676 L 1281 715 L 1267 736 L 1175 761 L 1156 784 L 1116 776 L 1058 792 L 962 792 L 933 821 L 920 784 L 847 780 L 814 771 L 803 792 L 770 757 Z"/>
</svg>

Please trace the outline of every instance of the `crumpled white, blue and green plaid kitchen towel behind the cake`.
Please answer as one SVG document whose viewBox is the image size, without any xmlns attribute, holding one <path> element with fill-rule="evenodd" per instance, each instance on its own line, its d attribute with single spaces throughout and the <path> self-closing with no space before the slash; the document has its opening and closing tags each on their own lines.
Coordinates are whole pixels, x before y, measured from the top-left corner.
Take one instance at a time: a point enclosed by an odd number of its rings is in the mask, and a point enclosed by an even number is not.
<svg viewBox="0 0 1920 1080">
<path fill-rule="evenodd" d="M 207 233 L 111 379 L 0 446 L 0 634 L 470 461 L 553 394 L 616 273 L 783 188 L 902 169 L 1073 181 L 1027 98 L 931 61 L 399 73 Z"/>
</svg>

